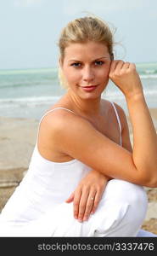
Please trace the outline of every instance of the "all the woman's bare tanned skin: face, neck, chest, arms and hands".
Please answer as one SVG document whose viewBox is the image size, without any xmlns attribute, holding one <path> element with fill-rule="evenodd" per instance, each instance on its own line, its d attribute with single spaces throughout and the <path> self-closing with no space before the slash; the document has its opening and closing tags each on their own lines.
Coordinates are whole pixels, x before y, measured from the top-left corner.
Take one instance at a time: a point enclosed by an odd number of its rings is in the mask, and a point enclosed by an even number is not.
<svg viewBox="0 0 157 256">
<path fill-rule="evenodd" d="M 156 133 L 134 64 L 111 61 L 104 44 L 88 42 L 70 44 L 65 49 L 60 66 L 69 90 L 53 108 L 69 108 L 77 115 L 63 110 L 48 114 L 41 125 L 38 148 L 48 160 L 62 162 L 76 158 L 93 167 L 67 199 L 67 202 L 74 201 L 74 217 L 82 221 L 87 220 L 91 212 L 95 212 L 109 178 L 121 178 L 146 186 L 157 185 L 157 175 L 154 174 L 157 173 Z M 115 104 L 122 125 L 122 146 L 125 148 L 122 149 L 117 145 L 120 131 L 113 107 L 101 99 L 109 79 L 126 96 L 133 126 L 133 152 L 124 111 Z M 82 90 L 81 86 L 88 85 L 98 87 L 92 92 Z M 75 129 L 69 129 L 74 124 Z M 104 158 L 101 158 L 102 150 L 98 149 L 99 146 L 93 154 L 93 144 L 94 150 L 97 145 L 102 145 Z M 82 150 L 86 145 L 89 145 L 87 151 Z M 88 155 L 92 154 L 93 159 L 88 159 Z"/>
</svg>

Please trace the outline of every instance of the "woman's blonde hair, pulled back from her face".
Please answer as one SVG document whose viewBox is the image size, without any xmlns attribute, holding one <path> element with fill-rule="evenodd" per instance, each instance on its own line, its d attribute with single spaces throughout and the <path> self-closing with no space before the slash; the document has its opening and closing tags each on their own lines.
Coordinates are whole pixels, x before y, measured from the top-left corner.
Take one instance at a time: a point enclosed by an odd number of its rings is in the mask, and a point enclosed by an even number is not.
<svg viewBox="0 0 157 256">
<path fill-rule="evenodd" d="M 69 44 L 87 43 L 88 41 L 105 44 L 109 50 L 111 59 L 114 58 L 114 39 L 109 25 L 104 22 L 104 20 L 100 20 L 97 17 L 86 16 L 70 21 L 61 31 L 58 44 L 60 61 L 64 60 L 64 49 Z M 61 67 L 59 67 L 59 81 L 64 88 L 68 87 L 68 84 L 64 79 Z"/>
</svg>

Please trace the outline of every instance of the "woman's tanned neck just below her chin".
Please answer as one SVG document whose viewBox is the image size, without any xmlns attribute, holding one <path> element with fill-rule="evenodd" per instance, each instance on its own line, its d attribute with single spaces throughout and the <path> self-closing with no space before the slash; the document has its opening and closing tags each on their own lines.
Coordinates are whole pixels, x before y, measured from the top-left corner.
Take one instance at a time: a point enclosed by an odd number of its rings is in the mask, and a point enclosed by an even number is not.
<svg viewBox="0 0 157 256">
<path fill-rule="evenodd" d="M 101 111 L 101 96 L 95 99 L 81 99 L 73 91 L 68 90 L 66 96 L 72 106 L 87 116 L 98 116 Z"/>
</svg>

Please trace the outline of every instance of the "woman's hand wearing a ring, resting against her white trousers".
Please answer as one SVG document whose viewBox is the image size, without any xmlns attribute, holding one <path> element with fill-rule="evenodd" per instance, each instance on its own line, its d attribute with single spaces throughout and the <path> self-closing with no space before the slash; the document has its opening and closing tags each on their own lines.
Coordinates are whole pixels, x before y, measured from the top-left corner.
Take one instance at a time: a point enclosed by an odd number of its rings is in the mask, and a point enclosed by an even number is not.
<svg viewBox="0 0 157 256">
<path fill-rule="evenodd" d="M 90 214 L 96 211 L 109 177 L 95 170 L 81 179 L 76 190 L 66 200 L 74 201 L 74 218 L 86 221 Z"/>
</svg>

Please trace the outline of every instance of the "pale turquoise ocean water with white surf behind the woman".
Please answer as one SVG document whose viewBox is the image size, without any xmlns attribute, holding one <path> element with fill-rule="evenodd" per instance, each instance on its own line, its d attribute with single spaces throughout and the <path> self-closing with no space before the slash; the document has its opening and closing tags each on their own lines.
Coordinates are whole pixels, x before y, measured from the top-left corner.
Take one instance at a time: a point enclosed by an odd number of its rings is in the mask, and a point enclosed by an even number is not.
<svg viewBox="0 0 157 256">
<path fill-rule="evenodd" d="M 157 108 L 157 62 L 137 63 L 149 108 Z M 0 70 L 0 116 L 40 119 L 63 96 L 57 68 Z M 103 98 L 117 102 L 127 113 L 121 90 L 109 81 Z"/>
</svg>

